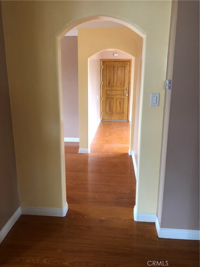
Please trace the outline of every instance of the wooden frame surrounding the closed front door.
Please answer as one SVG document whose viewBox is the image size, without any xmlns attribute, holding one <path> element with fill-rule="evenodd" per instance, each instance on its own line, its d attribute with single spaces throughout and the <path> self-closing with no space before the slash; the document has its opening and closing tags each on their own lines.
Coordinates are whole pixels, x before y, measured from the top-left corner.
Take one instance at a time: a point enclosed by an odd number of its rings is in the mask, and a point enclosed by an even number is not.
<svg viewBox="0 0 200 267">
<path fill-rule="evenodd" d="M 129 113 L 130 113 L 130 96 L 131 96 L 131 67 L 132 67 L 132 59 L 101 59 L 101 84 L 100 84 L 100 118 L 102 121 L 102 112 L 103 112 L 103 61 L 129 61 L 130 62 L 130 69 L 129 69 L 129 90 L 128 90 L 128 121 L 129 121 Z"/>
</svg>

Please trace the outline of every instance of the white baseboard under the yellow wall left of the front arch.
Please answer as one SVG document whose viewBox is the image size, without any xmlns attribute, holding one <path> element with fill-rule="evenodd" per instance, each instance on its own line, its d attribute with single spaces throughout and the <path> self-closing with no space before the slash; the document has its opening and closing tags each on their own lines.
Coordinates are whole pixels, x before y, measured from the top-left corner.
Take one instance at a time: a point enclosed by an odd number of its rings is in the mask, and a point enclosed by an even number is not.
<svg viewBox="0 0 200 267">
<path fill-rule="evenodd" d="M 21 207 L 21 211 L 24 215 L 64 217 L 68 212 L 68 203 L 64 208 Z"/>
</svg>

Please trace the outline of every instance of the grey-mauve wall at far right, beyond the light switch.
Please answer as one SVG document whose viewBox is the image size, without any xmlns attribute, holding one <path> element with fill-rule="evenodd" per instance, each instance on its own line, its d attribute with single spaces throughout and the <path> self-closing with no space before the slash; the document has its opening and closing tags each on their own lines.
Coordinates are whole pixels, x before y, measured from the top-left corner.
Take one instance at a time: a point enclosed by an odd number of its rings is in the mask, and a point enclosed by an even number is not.
<svg viewBox="0 0 200 267">
<path fill-rule="evenodd" d="M 162 228 L 199 229 L 199 2 L 179 1 Z"/>
</svg>

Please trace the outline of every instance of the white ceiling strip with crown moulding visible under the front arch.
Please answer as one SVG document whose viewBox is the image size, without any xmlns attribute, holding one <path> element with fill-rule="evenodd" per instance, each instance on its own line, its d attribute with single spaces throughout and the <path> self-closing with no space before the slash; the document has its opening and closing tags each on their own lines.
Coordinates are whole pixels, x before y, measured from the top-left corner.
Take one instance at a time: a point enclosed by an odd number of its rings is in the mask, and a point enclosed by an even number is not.
<svg viewBox="0 0 200 267">
<path fill-rule="evenodd" d="M 79 24 L 78 26 L 71 29 L 68 33 L 66 33 L 65 36 L 77 36 L 78 28 L 115 28 L 115 27 L 126 27 L 126 26 L 110 20 L 95 19 Z"/>
</svg>

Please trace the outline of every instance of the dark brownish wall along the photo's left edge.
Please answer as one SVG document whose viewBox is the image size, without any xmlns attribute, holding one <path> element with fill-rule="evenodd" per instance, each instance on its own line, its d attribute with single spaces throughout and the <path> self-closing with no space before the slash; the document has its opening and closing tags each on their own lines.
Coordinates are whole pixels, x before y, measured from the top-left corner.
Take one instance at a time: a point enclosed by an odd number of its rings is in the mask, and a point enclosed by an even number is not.
<svg viewBox="0 0 200 267">
<path fill-rule="evenodd" d="M 19 208 L 15 148 L 0 2 L 0 230 Z"/>
</svg>

